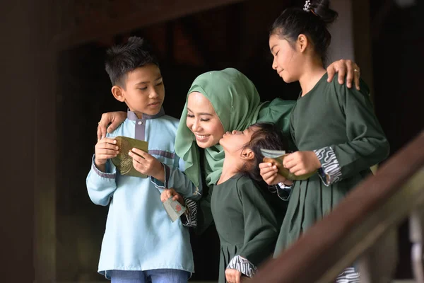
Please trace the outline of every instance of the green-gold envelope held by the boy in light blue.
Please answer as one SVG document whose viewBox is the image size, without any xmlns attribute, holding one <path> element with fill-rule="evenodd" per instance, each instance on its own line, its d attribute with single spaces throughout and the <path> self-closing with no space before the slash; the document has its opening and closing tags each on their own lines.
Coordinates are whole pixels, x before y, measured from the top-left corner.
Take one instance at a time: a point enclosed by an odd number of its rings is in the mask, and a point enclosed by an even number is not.
<svg viewBox="0 0 424 283">
<path fill-rule="evenodd" d="M 131 149 L 141 149 L 142 151 L 148 152 L 148 142 L 121 136 L 114 137 L 114 139 L 117 140 L 117 146 L 119 147 L 119 154 L 117 157 L 112 158 L 112 163 L 116 166 L 117 171 L 119 171 L 121 175 L 147 178 L 147 175 L 136 171 L 132 164 L 132 157 L 129 156 L 128 153 Z"/>
</svg>

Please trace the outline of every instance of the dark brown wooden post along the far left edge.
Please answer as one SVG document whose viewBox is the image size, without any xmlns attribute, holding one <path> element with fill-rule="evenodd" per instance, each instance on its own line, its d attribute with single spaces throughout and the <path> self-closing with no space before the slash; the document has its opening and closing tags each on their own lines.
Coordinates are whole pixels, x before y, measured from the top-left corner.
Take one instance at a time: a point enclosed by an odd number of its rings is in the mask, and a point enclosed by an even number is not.
<svg viewBox="0 0 424 283">
<path fill-rule="evenodd" d="M 1 3 L 2 282 L 54 279 L 54 79 L 47 1 Z"/>
</svg>

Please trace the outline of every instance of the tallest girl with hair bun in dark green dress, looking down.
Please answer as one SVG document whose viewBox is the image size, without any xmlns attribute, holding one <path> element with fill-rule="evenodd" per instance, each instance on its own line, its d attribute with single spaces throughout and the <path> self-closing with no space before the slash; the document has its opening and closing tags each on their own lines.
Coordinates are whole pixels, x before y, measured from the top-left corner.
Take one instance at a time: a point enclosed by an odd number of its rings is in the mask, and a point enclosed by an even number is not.
<svg viewBox="0 0 424 283">
<path fill-rule="evenodd" d="M 329 1 L 307 1 L 303 9 L 283 11 L 271 29 L 273 69 L 285 82 L 299 81 L 302 88 L 290 116 L 290 133 L 298 151 L 288 155 L 283 166 L 295 175 L 318 171 L 293 184 L 275 256 L 331 212 L 371 173 L 370 166 L 389 153 L 365 83 L 361 81 L 357 91 L 338 84 L 337 78 L 326 82 L 324 60 L 331 40 L 326 26 L 336 16 Z M 269 163 L 261 164 L 261 175 L 269 184 L 285 181 Z M 338 282 L 357 280 L 353 275 L 338 278 Z"/>
</svg>

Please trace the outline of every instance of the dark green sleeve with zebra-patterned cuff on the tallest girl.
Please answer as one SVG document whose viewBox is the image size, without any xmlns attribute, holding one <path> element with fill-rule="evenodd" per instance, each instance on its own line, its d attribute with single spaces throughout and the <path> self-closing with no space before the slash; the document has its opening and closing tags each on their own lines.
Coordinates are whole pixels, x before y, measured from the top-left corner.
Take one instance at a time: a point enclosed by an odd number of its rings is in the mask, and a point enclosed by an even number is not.
<svg viewBox="0 0 424 283">
<path fill-rule="evenodd" d="M 389 142 L 375 116 L 366 84 L 361 81 L 361 91 L 347 88 L 346 84 L 338 84 L 337 78 L 334 78 L 333 84 L 338 104 L 346 116 L 348 141 L 343 144 L 333 144 L 327 149 L 320 149 L 321 154 L 318 153 L 317 156 L 323 164 L 320 156 L 331 156 L 331 151 L 334 151 L 335 158 L 328 158 L 329 162 L 333 160 L 338 163 L 340 171 L 338 179 L 344 179 L 387 158 Z M 325 167 L 331 168 L 331 164 L 324 162 L 323 168 Z M 337 166 L 332 167 L 337 168 Z"/>
</svg>

